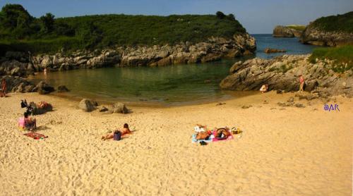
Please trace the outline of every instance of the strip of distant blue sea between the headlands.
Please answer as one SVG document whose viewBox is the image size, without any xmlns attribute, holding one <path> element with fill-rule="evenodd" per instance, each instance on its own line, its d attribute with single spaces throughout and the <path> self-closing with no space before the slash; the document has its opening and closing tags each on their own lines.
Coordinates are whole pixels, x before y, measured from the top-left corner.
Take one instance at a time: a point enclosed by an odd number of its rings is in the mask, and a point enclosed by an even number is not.
<svg viewBox="0 0 353 196">
<path fill-rule="evenodd" d="M 283 54 L 309 54 L 316 46 L 301 44 L 299 38 L 272 37 L 271 34 L 254 34 L 256 39 L 256 57 L 270 59 Z M 285 49 L 285 53 L 265 54 L 265 48 Z"/>
</svg>

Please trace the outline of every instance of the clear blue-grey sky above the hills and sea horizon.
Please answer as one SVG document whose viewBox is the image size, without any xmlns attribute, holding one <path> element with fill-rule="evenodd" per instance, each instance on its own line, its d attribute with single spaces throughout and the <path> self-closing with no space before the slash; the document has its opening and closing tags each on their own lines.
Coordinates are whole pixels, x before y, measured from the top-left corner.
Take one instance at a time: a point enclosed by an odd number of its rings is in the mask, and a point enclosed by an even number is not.
<svg viewBox="0 0 353 196">
<path fill-rule="evenodd" d="M 272 33 L 275 25 L 307 25 L 321 16 L 353 11 L 352 0 L 0 0 L 21 4 L 35 17 L 53 13 L 56 18 L 104 13 L 133 15 L 233 13 L 251 34 Z"/>
</svg>

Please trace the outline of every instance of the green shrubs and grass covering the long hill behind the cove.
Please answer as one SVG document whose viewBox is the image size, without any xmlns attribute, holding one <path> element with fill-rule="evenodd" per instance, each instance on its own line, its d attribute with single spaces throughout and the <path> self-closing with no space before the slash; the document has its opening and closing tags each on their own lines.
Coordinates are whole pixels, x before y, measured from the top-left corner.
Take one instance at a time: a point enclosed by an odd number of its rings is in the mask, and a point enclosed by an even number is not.
<svg viewBox="0 0 353 196">
<path fill-rule="evenodd" d="M 95 49 L 113 45 L 177 44 L 202 42 L 209 37 L 231 38 L 246 30 L 234 15 L 126 16 L 109 14 L 54 18 L 30 16 L 18 4 L 0 12 L 0 47 L 32 52 L 61 48 Z M 1 52 L 1 51 L 0 51 Z"/>
</svg>

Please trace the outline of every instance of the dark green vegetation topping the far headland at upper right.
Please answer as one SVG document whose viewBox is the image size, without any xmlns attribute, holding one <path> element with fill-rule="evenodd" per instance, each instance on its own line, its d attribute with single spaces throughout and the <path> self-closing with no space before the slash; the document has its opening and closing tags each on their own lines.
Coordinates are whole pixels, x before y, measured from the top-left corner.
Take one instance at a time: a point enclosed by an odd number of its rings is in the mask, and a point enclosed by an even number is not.
<svg viewBox="0 0 353 196">
<path fill-rule="evenodd" d="M 337 16 L 327 16 L 321 17 L 313 21 L 311 24 L 320 30 L 325 30 L 329 32 L 349 32 L 353 33 L 353 11 L 337 15 Z"/>
</svg>

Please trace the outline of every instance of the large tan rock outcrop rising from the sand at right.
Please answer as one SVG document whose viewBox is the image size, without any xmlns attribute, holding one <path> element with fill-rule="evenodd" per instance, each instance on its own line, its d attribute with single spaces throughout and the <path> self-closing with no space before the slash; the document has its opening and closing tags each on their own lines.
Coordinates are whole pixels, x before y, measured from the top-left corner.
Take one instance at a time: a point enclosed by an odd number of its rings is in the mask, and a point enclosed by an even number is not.
<svg viewBox="0 0 353 196">
<path fill-rule="evenodd" d="M 326 95 L 353 95 L 353 71 L 335 73 L 335 61 L 319 61 L 312 64 L 309 55 L 283 55 L 275 59 L 250 59 L 234 63 L 230 75 L 220 83 L 225 90 L 259 90 L 268 84 L 270 90 L 299 90 L 299 75 L 303 75 L 305 91 Z"/>
</svg>

